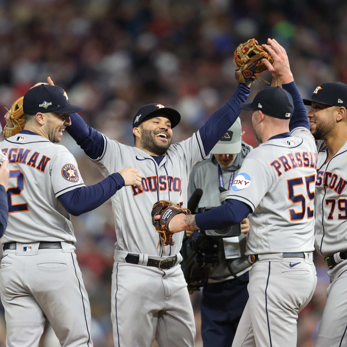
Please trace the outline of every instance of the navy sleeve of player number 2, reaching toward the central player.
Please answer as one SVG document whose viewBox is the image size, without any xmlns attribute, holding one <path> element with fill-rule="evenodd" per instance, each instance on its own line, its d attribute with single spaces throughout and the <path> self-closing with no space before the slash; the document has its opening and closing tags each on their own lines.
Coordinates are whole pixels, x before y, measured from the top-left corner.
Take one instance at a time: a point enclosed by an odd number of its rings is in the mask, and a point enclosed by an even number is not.
<svg viewBox="0 0 347 347">
<path fill-rule="evenodd" d="M 101 182 L 88 187 L 79 187 L 58 197 L 65 210 L 74 216 L 94 210 L 125 184 L 123 177 L 116 172 Z"/>
</svg>

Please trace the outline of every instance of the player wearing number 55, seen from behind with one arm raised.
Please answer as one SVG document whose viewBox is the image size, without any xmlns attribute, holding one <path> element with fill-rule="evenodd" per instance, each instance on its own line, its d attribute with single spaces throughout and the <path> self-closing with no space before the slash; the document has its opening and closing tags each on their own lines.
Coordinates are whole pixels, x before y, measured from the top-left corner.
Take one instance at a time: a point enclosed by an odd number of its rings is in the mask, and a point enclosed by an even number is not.
<svg viewBox="0 0 347 347">
<path fill-rule="evenodd" d="M 273 76 L 285 75 L 287 54 L 278 43 L 271 45 L 274 64 L 264 64 Z M 296 92 L 296 102 L 301 100 L 291 74 L 282 83 Z M 302 101 L 301 105 L 291 117 L 293 99 L 279 87 L 266 87 L 252 103 L 241 104 L 254 110 L 252 124 L 261 144 L 244 160 L 227 203 L 195 216 L 177 214 L 170 222 L 172 232 L 199 226 L 215 229 L 251 213 L 246 250 L 252 264 L 249 299 L 234 347 L 296 346 L 298 313 L 316 286 L 312 251 L 318 156 Z"/>
</svg>

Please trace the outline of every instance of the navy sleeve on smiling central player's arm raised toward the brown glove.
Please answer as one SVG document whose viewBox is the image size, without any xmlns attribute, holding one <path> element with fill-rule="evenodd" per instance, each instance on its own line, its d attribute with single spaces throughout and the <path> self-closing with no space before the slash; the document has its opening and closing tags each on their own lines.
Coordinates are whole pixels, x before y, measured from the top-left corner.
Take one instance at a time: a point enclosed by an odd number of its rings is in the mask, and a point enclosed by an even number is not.
<svg viewBox="0 0 347 347">
<path fill-rule="evenodd" d="M 239 84 L 231 99 L 215 111 L 209 120 L 199 129 L 205 154 L 210 153 L 214 145 L 231 127 L 241 113 L 240 104 L 246 102 L 249 95 L 249 87 Z"/>
</svg>

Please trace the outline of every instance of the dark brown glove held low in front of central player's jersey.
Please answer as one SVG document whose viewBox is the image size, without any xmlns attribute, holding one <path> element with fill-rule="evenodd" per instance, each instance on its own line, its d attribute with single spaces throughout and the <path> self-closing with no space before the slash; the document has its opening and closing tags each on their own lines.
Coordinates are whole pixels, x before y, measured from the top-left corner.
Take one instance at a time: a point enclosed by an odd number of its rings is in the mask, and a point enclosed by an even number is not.
<svg viewBox="0 0 347 347">
<path fill-rule="evenodd" d="M 161 240 L 163 240 L 164 246 L 173 246 L 175 244 L 175 241 L 172 240 L 172 235 L 174 234 L 169 230 L 169 223 L 172 217 L 179 213 L 189 215 L 191 211 L 167 200 L 157 201 L 153 205 L 151 213 L 152 224 L 155 227 L 155 231 L 159 232 L 158 247 Z M 156 215 L 160 215 L 160 219 L 155 220 L 154 217 Z"/>
</svg>

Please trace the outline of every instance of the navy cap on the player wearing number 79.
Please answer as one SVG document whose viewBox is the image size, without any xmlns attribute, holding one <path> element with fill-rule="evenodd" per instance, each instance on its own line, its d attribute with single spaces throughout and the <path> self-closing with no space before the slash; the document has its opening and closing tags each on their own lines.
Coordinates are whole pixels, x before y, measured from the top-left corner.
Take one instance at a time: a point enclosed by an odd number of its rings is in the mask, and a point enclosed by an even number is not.
<svg viewBox="0 0 347 347">
<path fill-rule="evenodd" d="M 318 86 L 311 99 L 303 99 L 305 105 L 312 102 L 331 106 L 344 106 L 347 108 L 347 85 L 342 82 L 327 82 Z"/>
</svg>

